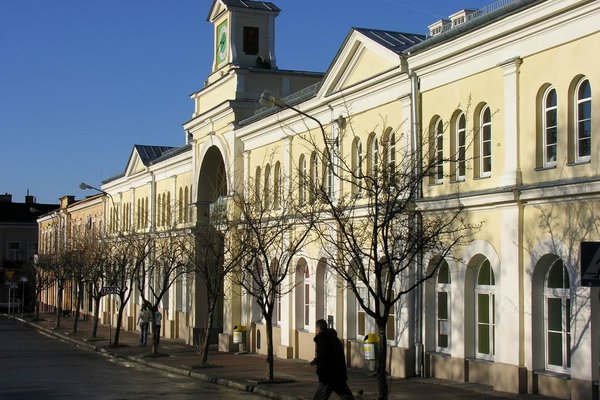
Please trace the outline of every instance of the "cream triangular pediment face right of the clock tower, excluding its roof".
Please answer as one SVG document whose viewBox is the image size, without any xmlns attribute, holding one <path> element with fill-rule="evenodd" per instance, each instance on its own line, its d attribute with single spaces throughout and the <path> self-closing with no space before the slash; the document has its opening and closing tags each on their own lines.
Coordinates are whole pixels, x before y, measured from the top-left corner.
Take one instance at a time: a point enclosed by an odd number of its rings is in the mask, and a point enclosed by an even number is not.
<svg viewBox="0 0 600 400">
<path fill-rule="evenodd" d="M 328 96 L 348 89 L 399 68 L 401 62 L 401 56 L 397 52 L 353 29 L 329 67 L 320 93 Z"/>
</svg>

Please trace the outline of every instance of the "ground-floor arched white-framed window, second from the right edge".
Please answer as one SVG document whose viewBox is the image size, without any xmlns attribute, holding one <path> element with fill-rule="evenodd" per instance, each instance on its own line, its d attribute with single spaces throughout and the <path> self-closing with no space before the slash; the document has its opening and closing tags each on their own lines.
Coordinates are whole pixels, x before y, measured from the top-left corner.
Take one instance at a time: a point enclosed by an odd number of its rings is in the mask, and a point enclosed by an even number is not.
<svg viewBox="0 0 600 400">
<path fill-rule="evenodd" d="M 477 357 L 493 360 L 495 353 L 495 285 L 494 271 L 489 260 L 479 266 L 477 286 L 475 286 L 475 315 Z"/>
</svg>

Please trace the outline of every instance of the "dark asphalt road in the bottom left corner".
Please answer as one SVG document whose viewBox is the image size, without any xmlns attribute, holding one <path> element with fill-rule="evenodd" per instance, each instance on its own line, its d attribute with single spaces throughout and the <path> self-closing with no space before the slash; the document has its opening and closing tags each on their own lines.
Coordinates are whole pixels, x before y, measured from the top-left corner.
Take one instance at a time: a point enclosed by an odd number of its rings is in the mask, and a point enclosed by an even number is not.
<svg viewBox="0 0 600 400">
<path fill-rule="evenodd" d="M 0 317 L 0 400 L 262 399 L 43 336 Z"/>
</svg>

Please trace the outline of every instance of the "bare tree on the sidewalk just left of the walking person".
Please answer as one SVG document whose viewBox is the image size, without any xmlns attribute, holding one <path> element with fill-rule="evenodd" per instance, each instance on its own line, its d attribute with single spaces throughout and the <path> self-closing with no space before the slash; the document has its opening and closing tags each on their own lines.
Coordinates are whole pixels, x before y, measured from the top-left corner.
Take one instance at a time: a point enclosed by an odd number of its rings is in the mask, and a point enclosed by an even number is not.
<svg viewBox="0 0 600 400">
<path fill-rule="evenodd" d="M 295 257 L 311 240 L 316 214 L 293 192 L 283 190 L 283 177 L 246 182 L 245 192 L 232 197 L 240 214 L 237 283 L 260 307 L 267 330 L 267 380 L 273 380 L 273 312 L 277 298 L 288 293 L 283 285 L 295 272 Z M 290 187 L 293 185 L 290 185 Z M 273 189 L 271 189 L 271 187 Z"/>
</svg>

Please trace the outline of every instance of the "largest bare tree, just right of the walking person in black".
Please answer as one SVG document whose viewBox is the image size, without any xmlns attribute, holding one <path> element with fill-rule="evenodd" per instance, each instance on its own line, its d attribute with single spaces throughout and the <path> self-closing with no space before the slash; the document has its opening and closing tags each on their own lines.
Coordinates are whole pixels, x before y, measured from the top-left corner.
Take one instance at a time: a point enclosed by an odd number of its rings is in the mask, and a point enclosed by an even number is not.
<svg viewBox="0 0 600 400">
<path fill-rule="evenodd" d="M 456 164 L 458 155 L 442 159 L 429 135 L 415 145 L 411 133 L 400 128 L 375 129 L 379 132 L 364 151 L 350 121 L 343 122 L 337 137 L 321 127 L 320 135 L 306 138 L 321 168 L 310 185 L 321 205 L 316 232 L 328 268 L 343 279 L 377 326 L 379 399 L 387 399 L 390 311 L 435 276 L 441 260 L 467 242 L 477 226 L 466 222 L 458 194 L 441 208 L 423 209 L 423 182 L 441 178 L 441 166 Z M 353 154 L 343 154 L 339 143 L 351 144 Z M 436 262 L 427 271 L 422 267 L 425 254 L 435 256 Z"/>
</svg>

